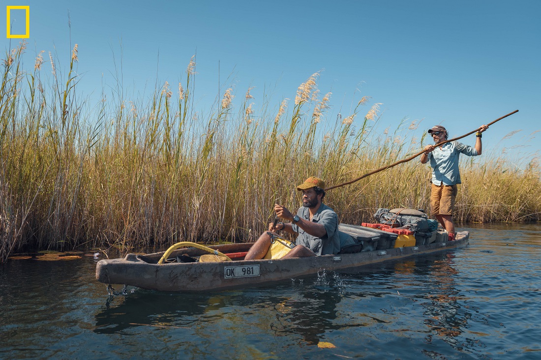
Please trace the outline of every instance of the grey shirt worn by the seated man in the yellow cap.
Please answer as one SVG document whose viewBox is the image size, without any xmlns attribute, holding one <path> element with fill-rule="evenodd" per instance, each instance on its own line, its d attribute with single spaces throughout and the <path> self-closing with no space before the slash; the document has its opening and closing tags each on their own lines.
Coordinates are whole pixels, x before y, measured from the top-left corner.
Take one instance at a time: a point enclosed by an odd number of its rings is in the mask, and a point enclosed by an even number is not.
<svg viewBox="0 0 541 360">
<path fill-rule="evenodd" d="M 309 209 L 304 206 L 297 211 L 297 215 L 306 221 L 310 221 Z M 304 230 L 299 228 L 299 225 L 291 224 L 293 231 L 299 233 L 296 244 L 306 246 L 317 255 L 338 254 L 340 251 L 340 236 L 338 234 L 337 213 L 327 205 L 321 204 L 318 211 L 312 217 L 312 222 L 325 226 L 327 234 L 321 238 L 315 237 L 307 234 Z"/>
</svg>

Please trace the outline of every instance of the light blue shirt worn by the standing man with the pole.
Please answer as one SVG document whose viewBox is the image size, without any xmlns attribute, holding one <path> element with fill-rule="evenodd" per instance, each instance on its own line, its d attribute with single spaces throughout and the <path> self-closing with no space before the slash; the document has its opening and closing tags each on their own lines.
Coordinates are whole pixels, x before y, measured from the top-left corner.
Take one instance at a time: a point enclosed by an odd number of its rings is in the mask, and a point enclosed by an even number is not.
<svg viewBox="0 0 541 360">
<path fill-rule="evenodd" d="M 428 160 L 432 167 L 432 183 L 434 185 L 460 184 L 460 172 L 458 170 L 458 157 L 460 154 L 476 156 L 477 150 L 472 146 L 464 145 L 458 141 L 452 141 L 438 146 L 428 153 Z"/>
</svg>

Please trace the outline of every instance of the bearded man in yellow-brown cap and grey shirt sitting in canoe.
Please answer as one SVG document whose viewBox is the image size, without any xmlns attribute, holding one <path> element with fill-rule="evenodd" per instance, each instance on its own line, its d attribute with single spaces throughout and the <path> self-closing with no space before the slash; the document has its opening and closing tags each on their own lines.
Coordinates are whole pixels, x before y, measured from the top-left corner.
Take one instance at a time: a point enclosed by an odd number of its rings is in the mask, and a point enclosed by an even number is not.
<svg viewBox="0 0 541 360">
<path fill-rule="evenodd" d="M 275 204 L 276 215 L 289 223 L 269 224 L 269 231 L 287 231 L 299 235 L 296 246 L 282 258 L 338 254 L 340 235 L 338 215 L 322 203 L 325 197 L 325 182 L 309 177 L 297 190 L 302 191 L 302 207 L 293 215 L 285 206 Z M 264 232 L 250 248 L 246 260 L 262 259 L 271 247 L 271 237 Z"/>
</svg>

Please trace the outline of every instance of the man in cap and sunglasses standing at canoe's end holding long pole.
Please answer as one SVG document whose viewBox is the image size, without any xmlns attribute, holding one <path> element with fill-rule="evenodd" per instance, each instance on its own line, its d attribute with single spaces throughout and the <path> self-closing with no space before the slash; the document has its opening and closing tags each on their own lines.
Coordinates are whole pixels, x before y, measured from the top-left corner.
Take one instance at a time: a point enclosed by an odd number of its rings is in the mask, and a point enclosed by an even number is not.
<svg viewBox="0 0 541 360">
<path fill-rule="evenodd" d="M 454 240 L 456 235 L 453 225 L 454 201 L 457 197 L 457 184 L 460 184 L 460 172 L 458 170 L 458 157 L 460 154 L 467 156 L 481 155 L 481 133 L 488 129 L 488 125 L 482 125 L 476 133 L 475 147 L 464 145 L 458 141 L 452 141 L 440 145 L 426 145 L 425 152 L 421 154 L 421 163 L 430 161 L 432 167 L 432 184 L 430 195 L 430 210 L 436 216 L 441 226 L 447 230 L 449 240 Z M 434 139 L 434 144 L 447 140 L 447 130 L 441 125 L 433 126 L 428 134 Z"/>
</svg>

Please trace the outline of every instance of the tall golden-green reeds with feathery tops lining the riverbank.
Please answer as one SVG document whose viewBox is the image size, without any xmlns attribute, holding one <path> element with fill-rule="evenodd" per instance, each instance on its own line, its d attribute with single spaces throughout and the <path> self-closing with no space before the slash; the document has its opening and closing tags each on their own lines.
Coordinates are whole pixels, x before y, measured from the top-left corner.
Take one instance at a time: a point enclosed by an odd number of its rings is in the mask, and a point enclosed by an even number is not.
<svg viewBox="0 0 541 360">
<path fill-rule="evenodd" d="M 25 44 L 8 52 L 0 88 L 0 262 L 24 247 L 68 250 L 164 248 L 179 241 L 253 241 L 273 204 L 296 209 L 294 186 L 327 185 L 418 152 L 416 123 L 375 130 L 379 103 L 361 97 L 347 116 L 327 115 L 331 93 L 316 73 L 294 101 L 222 92 L 203 114 L 194 106 L 195 59 L 178 91 L 166 82 L 146 100 L 78 95 L 77 45 L 61 74 L 42 82 L 43 51 L 22 69 Z M 175 86 L 176 87 L 176 86 Z M 471 129 L 469 129 L 471 130 Z M 505 155 L 461 164 L 459 222 L 537 221 L 539 165 Z M 342 222 L 371 221 L 375 208 L 428 209 L 430 169 L 417 160 L 328 192 Z"/>
</svg>

